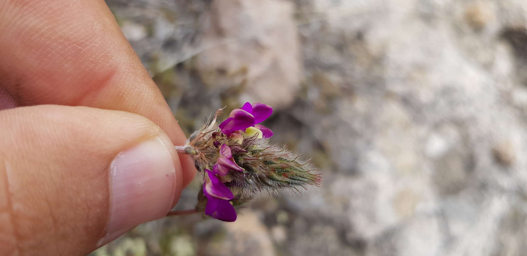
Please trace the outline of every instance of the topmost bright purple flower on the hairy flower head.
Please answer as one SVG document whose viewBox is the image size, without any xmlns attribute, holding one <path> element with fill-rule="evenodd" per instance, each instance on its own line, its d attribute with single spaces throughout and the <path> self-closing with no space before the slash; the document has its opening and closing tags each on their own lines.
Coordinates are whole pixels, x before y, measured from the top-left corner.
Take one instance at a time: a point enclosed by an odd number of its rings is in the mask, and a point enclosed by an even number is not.
<svg viewBox="0 0 527 256">
<path fill-rule="evenodd" d="M 234 131 L 246 129 L 266 120 L 271 114 L 272 107 L 269 105 L 262 103 L 251 105 L 251 103 L 247 102 L 240 109 L 231 111 L 229 118 L 223 121 L 219 127 L 222 133 L 229 136 Z"/>
</svg>

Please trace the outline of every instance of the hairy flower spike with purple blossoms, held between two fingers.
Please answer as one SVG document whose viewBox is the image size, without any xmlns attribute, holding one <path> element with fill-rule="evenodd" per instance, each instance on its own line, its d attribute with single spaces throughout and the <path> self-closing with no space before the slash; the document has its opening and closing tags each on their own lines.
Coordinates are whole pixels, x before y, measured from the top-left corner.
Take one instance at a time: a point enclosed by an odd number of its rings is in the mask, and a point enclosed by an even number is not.
<svg viewBox="0 0 527 256">
<path fill-rule="evenodd" d="M 180 151 L 192 157 L 203 180 L 197 211 L 235 221 L 233 206 L 255 196 L 321 184 L 320 170 L 309 159 L 270 142 L 272 131 L 258 123 L 271 113 L 266 104 L 246 103 L 218 125 L 220 109 L 189 137 Z"/>
</svg>

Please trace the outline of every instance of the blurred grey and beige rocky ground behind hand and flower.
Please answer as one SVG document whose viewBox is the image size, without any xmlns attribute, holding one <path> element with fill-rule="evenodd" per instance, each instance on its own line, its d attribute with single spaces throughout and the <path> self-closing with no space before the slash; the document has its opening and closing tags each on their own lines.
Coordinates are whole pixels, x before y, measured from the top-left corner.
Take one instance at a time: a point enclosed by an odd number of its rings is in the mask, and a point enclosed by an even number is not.
<svg viewBox="0 0 527 256">
<path fill-rule="evenodd" d="M 188 134 L 246 101 L 324 184 L 103 255 L 525 255 L 524 0 L 107 0 Z M 199 181 L 176 206 L 192 208 Z"/>
</svg>

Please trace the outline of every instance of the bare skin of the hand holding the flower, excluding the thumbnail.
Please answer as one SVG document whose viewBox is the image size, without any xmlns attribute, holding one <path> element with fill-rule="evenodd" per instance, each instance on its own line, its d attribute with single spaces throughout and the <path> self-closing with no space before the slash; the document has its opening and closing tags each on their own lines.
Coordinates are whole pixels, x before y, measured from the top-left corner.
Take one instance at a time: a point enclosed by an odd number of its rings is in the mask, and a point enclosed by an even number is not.
<svg viewBox="0 0 527 256">
<path fill-rule="evenodd" d="M 104 1 L 0 1 L 1 252 L 99 247 L 108 166 L 151 137 L 172 149 L 186 141 Z M 175 205 L 196 169 L 170 154 Z"/>
</svg>

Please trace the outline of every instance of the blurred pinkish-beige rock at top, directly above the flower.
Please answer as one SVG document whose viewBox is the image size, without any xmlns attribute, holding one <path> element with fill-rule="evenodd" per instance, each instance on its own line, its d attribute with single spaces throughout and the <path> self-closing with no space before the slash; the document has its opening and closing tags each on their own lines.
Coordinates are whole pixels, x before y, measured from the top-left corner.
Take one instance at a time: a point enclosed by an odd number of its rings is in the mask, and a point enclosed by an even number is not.
<svg viewBox="0 0 527 256">
<path fill-rule="evenodd" d="M 210 86 L 240 86 L 242 101 L 284 107 L 300 82 L 299 40 L 287 1 L 212 1 L 196 67 Z"/>
</svg>

